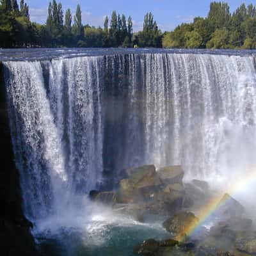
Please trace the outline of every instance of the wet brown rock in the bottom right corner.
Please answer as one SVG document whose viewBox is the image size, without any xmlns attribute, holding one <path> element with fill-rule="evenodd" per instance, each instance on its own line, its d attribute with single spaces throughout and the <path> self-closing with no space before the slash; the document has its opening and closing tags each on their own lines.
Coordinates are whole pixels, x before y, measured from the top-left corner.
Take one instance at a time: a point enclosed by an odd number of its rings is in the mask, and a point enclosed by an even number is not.
<svg viewBox="0 0 256 256">
<path fill-rule="evenodd" d="M 235 246 L 237 250 L 251 255 L 256 254 L 256 231 L 237 233 Z"/>
</svg>

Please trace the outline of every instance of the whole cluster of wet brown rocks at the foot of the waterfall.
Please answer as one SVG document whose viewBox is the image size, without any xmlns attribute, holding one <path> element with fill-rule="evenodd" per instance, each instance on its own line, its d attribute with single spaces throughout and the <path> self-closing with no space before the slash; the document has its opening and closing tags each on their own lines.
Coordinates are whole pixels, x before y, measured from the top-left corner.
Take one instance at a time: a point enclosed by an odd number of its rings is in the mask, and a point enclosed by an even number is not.
<svg viewBox="0 0 256 256">
<path fill-rule="evenodd" d="M 138 221 L 164 220 L 170 237 L 144 241 L 134 248 L 135 255 L 255 255 L 256 231 L 252 220 L 244 218 L 243 205 L 225 194 L 207 229 L 193 212 L 211 199 L 209 184 L 201 180 L 184 184 L 183 176 L 181 166 L 157 171 L 154 165 L 131 168 L 116 191 L 91 191 L 90 198 Z M 187 234 L 191 225 L 198 226 L 193 236 Z"/>
</svg>

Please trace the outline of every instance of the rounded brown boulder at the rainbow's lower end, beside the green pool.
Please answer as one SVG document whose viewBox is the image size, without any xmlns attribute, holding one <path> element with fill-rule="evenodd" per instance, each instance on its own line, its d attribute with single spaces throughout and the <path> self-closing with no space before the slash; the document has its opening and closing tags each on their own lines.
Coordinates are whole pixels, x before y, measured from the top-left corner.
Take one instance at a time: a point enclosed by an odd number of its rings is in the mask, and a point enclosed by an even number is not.
<svg viewBox="0 0 256 256">
<path fill-rule="evenodd" d="M 188 228 L 196 226 L 199 219 L 193 212 L 180 212 L 172 218 L 164 221 L 163 227 L 170 232 L 176 240 L 180 241 L 188 236 Z"/>
</svg>

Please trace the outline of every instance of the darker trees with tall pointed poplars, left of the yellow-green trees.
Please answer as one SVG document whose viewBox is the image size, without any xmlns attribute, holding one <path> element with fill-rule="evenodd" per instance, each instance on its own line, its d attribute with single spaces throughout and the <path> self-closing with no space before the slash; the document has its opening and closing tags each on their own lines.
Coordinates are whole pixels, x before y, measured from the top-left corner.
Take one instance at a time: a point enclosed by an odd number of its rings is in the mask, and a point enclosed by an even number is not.
<svg viewBox="0 0 256 256">
<path fill-rule="evenodd" d="M 65 12 L 61 2 L 52 0 L 45 24 L 31 22 L 24 0 L 1 0 L 0 47 L 161 47 L 161 31 L 152 13 L 145 15 L 143 31 L 133 33 L 131 16 L 115 11 L 104 20 L 103 28 L 82 24 L 81 6 L 76 13 Z"/>
</svg>

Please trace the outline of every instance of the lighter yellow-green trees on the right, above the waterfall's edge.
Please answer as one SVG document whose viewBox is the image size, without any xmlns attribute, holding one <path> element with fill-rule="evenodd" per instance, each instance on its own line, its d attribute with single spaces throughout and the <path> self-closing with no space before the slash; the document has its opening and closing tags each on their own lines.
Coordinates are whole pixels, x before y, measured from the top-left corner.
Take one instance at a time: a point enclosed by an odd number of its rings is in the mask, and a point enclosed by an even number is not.
<svg viewBox="0 0 256 256">
<path fill-rule="evenodd" d="M 231 13 L 228 3 L 214 1 L 207 17 L 164 33 L 163 47 L 256 49 L 256 8 L 241 4 Z"/>
</svg>

